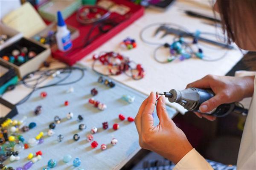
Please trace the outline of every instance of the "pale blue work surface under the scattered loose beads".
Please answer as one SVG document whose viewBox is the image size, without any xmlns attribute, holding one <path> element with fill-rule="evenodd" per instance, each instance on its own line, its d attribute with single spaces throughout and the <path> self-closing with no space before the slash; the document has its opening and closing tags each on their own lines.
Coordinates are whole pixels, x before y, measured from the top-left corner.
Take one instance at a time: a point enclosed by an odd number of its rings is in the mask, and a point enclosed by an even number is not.
<svg viewBox="0 0 256 170">
<path fill-rule="evenodd" d="M 74 71 L 69 81 L 77 79 L 80 77 L 80 74 L 79 71 Z M 79 167 L 84 168 L 84 170 L 120 169 L 140 150 L 136 127 L 134 122 L 127 121 L 127 117 L 136 116 L 146 96 L 118 82 L 115 82 L 116 86 L 114 88 L 110 88 L 97 82 L 98 78 L 98 74 L 87 70 L 84 72 L 84 78 L 76 84 L 44 88 L 35 91 L 27 102 L 18 106 L 19 114 L 15 119 L 22 119 L 23 116 L 27 116 L 26 125 L 30 122 L 37 123 L 37 127 L 23 133 L 23 137 L 28 141 L 29 138 L 35 137 L 41 131 L 46 136 L 44 136 L 44 143 L 20 152 L 20 161 L 10 163 L 8 159 L 4 163 L 15 168 L 17 166 L 23 166 L 28 162 L 26 157 L 29 153 L 34 154 L 38 150 L 41 150 L 43 153 L 42 160 L 36 162 L 30 169 L 40 170 L 46 167 L 49 159 L 55 159 L 57 161 L 58 165 L 54 169 L 75 169 L 72 165 L 73 159 L 75 158 L 81 159 L 81 165 Z M 73 93 L 67 93 L 70 86 L 74 88 Z M 96 96 L 90 94 L 93 88 L 99 91 Z M 44 99 L 40 97 L 42 91 L 46 91 L 48 94 Z M 135 96 L 135 101 L 131 104 L 123 101 L 121 98 L 124 94 Z M 95 100 L 105 103 L 107 108 L 104 111 L 99 111 L 98 108 L 90 105 L 88 100 L 92 97 Z M 64 106 L 64 101 L 66 100 L 69 101 L 68 106 Z M 38 105 L 42 105 L 43 111 L 40 115 L 35 116 L 34 110 Z M 167 107 L 167 110 L 171 117 L 176 113 L 172 108 Z M 67 120 L 66 115 L 69 112 L 73 112 L 74 116 L 73 119 Z M 120 113 L 126 117 L 124 121 L 119 119 Z M 79 114 L 84 116 L 82 122 L 77 122 L 77 116 Z M 54 116 L 59 116 L 61 123 L 56 124 L 54 129 L 55 134 L 49 137 L 47 136 L 47 131 L 49 124 L 54 122 Z M 154 120 L 155 124 L 157 124 L 158 118 L 156 113 L 154 113 Z M 108 129 L 104 130 L 102 128 L 102 122 L 108 122 Z M 81 123 L 87 125 L 87 128 L 79 130 L 79 124 Z M 114 123 L 119 124 L 120 128 L 118 130 L 113 130 Z M 90 134 L 90 130 L 94 126 L 98 128 L 98 132 L 93 134 L 93 140 L 97 141 L 99 145 L 92 149 L 90 145 L 92 142 L 87 142 L 86 136 Z M 78 141 L 73 140 L 75 133 L 80 136 Z M 57 136 L 59 134 L 64 136 L 62 142 L 57 142 Z M 118 140 L 115 146 L 110 144 L 112 138 Z M 102 151 L 100 148 L 101 144 L 106 144 L 107 149 Z M 62 161 L 63 156 L 66 154 L 72 156 L 69 163 Z"/>
</svg>

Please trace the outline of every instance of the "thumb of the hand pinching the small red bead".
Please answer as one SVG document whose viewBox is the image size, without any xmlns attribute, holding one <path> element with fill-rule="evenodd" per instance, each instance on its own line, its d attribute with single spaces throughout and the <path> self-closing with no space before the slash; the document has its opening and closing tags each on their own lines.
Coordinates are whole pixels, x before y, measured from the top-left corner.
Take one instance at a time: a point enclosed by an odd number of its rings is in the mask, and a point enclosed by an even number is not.
<svg viewBox="0 0 256 170">
<path fill-rule="evenodd" d="M 166 111 L 165 97 L 162 95 L 157 102 L 157 116 L 160 123 L 169 120 L 168 112 Z M 160 124 L 159 123 L 159 124 Z"/>
</svg>

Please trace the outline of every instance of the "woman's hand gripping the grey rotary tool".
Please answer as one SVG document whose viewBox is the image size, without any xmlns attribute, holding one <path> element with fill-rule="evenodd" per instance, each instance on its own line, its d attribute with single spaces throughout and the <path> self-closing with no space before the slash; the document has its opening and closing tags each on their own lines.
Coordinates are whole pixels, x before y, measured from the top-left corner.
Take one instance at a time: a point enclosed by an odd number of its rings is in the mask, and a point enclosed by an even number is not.
<svg viewBox="0 0 256 170">
<path fill-rule="evenodd" d="M 215 96 L 201 104 L 199 110 L 206 113 L 217 108 L 224 103 L 238 102 L 245 97 L 253 95 L 254 76 L 246 77 L 229 77 L 229 76 L 212 76 L 199 79 L 187 85 L 186 88 L 211 88 Z M 198 117 L 205 117 L 208 120 L 215 120 L 216 117 L 195 113 Z"/>
</svg>

